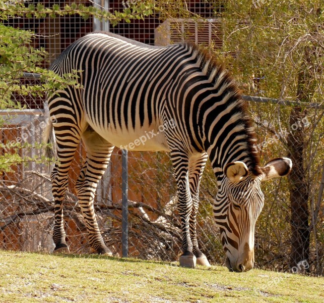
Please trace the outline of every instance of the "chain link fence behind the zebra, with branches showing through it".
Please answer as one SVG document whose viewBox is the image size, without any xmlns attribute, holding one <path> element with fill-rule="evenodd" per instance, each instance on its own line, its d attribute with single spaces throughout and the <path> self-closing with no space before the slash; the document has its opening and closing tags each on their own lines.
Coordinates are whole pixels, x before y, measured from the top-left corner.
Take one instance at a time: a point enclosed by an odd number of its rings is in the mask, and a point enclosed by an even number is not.
<svg viewBox="0 0 324 303">
<path fill-rule="evenodd" d="M 73 16 L 69 17 L 70 19 Z M 152 22 L 154 26 L 152 26 Z M 150 26 L 158 25 L 155 18 Z M 62 20 L 53 23 L 62 24 Z M 45 24 L 45 23 L 44 23 Z M 47 23 L 46 23 L 47 24 Z M 48 24 L 47 24 L 48 25 Z M 47 26 L 46 25 L 46 26 Z M 44 28 L 47 28 L 47 27 Z M 91 28 L 87 21 L 71 42 Z M 129 24 L 127 26 L 130 26 Z M 135 27 L 141 27 L 136 24 Z M 41 25 L 39 23 L 39 28 Z M 62 27 L 59 27 L 62 29 Z M 65 27 L 64 27 L 65 28 Z M 119 28 L 126 31 L 126 25 Z M 117 29 L 114 30 L 118 33 Z M 45 31 L 45 33 L 51 30 Z M 129 34 L 128 37 L 132 38 Z M 64 37 L 69 35 L 64 32 Z M 152 36 L 145 39 L 152 41 Z M 143 38 L 143 39 L 144 39 Z M 49 36 L 48 39 L 53 38 Z M 56 38 L 55 38 L 56 39 Z M 49 44 L 57 44 L 57 40 Z M 154 40 L 154 39 L 153 39 Z M 54 44 L 55 44 L 54 43 Z M 54 45 L 53 44 L 53 45 Z M 56 45 L 55 44 L 55 45 Z M 57 44 L 58 45 L 58 44 Z M 58 47 L 58 46 L 55 47 Z M 64 45 L 63 45 L 64 46 Z M 64 48 L 53 51 L 58 54 Z M 37 80 L 26 80 L 37 83 Z M 33 82 L 34 81 L 34 82 Z M 28 142 L 20 148 L 21 156 L 40 159 L 43 153 L 37 148 L 45 128 L 44 100 L 32 96 L 14 96 L 28 109 L 8 113 L 1 111 L 5 121 L 0 129 L 0 156 L 14 153 L 8 142 Z M 248 97 L 247 97 L 248 99 Z M 254 102 L 254 101 L 258 102 Z M 290 121 L 294 109 L 304 111 L 302 119 Z M 324 264 L 323 187 L 324 187 L 324 110 L 322 106 L 278 103 L 276 100 L 251 99 L 249 111 L 258 135 L 257 148 L 262 163 L 276 157 L 291 157 L 294 138 L 302 136 L 302 174 L 293 171 L 289 177 L 263 184 L 265 206 L 257 220 L 255 230 L 255 266 L 279 271 L 303 271 L 322 275 Z M 117 147 L 106 173 L 100 180 L 95 210 L 99 228 L 107 246 L 116 256 L 122 255 L 122 151 Z M 83 223 L 74 183 L 80 173 L 85 150 L 78 148 L 69 174 L 69 189 L 64 202 L 64 221 L 67 243 L 74 254 L 87 254 L 90 247 Z M 299 178 L 301 177 L 302 178 Z M 296 181 L 297 178 L 297 181 Z M 217 184 L 211 165 L 208 164 L 201 182 L 201 205 L 198 215 L 198 240 L 201 250 L 212 264 L 222 264 L 225 254 L 219 230 L 213 220 L 212 204 Z M 299 194 L 303 200 L 295 201 Z M 166 153 L 128 152 L 128 249 L 129 256 L 146 260 L 175 261 L 181 254 L 180 220 L 176 211 L 176 186 L 169 155 Z M 11 172 L 2 172 L 0 178 L 0 248 L 24 251 L 51 252 L 54 203 L 51 195 L 49 171 L 45 163 L 27 161 L 13 164 Z M 303 223 L 298 221 L 304 218 Z M 306 240 L 294 237 L 302 229 Z M 296 255 L 293 241 L 308 241 L 306 253 Z M 306 245 L 307 246 L 307 245 Z M 300 266 L 306 262 L 307 266 Z M 303 263 L 303 264 L 304 264 Z M 296 270 L 297 269 L 297 270 Z M 301 269 L 301 270 L 300 270 Z"/>
</svg>

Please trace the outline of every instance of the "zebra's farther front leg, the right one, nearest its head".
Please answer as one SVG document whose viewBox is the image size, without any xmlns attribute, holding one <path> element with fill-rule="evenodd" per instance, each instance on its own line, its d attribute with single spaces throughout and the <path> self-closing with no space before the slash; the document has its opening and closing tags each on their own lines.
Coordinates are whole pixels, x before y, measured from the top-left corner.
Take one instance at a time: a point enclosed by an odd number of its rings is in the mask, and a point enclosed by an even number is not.
<svg viewBox="0 0 324 303">
<path fill-rule="evenodd" d="M 206 153 L 195 155 L 189 160 L 189 187 L 192 198 L 192 211 L 189 219 L 190 238 L 192 242 L 192 252 L 197 258 L 197 264 L 210 266 L 206 256 L 202 253 L 198 246 L 196 232 L 196 218 L 199 207 L 199 184 L 203 171 L 206 166 L 208 155 Z"/>
</svg>

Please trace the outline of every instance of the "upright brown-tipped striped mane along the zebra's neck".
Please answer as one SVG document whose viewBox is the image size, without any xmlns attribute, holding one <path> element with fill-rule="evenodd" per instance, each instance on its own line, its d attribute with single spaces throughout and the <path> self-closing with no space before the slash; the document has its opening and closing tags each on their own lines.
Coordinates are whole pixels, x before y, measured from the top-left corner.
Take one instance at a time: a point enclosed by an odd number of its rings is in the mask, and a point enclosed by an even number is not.
<svg viewBox="0 0 324 303">
<path fill-rule="evenodd" d="M 206 49 L 198 46 L 192 42 L 182 42 L 184 46 L 191 49 L 193 54 L 196 54 L 197 62 L 200 63 L 201 70 L 206 76 L 211 80 L 212 83 L 217 81 L 220 74 L 223 74 L 223 78 L 226 79 L 228 83 L 231 83 L 228 88 L 233 91 L 234 102 L 236 103 L 235 108 L 241 112 L 241 118 L 238 124 L 244 126 L 246 134 L 246 150 L 247 156 L 250 159 L 249 169 L 253 175 L 258 176 L 262 174 L 260 168 L 260 156 L 255 147 L 257 142 L 257 137 L 252 125 L 252 121 L 248 115 L 248 105 L 241 97 L 241 91 L 239 90 L 233 76 L 228 72 L 222 63 L 219 63 L 215 57 L 210 55 Z M 230 98 L 227 102 L 228 104 L 233 103 L 233 98 Z"/>
</svg>

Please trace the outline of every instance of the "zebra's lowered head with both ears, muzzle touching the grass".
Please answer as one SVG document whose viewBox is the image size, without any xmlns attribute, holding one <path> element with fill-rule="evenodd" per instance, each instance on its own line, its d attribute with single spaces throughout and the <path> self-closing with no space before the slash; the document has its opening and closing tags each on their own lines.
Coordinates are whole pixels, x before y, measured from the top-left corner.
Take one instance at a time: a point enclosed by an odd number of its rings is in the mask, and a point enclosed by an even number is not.
<svg viewBox="0 0 324 303">
<path fill-rule="evenodd" d="M 285 176 L 291 171 L 288 158 L 278 158 L 260 167 L 255 176 L 240 161 L 229 163 L 224 169 L 214 201 L 214 218 L 220 228 L 225 265 L 230 271 L 243 272 L 254 265 L 254 229 L 264 205 L 262 181 Z"/>
</svg>

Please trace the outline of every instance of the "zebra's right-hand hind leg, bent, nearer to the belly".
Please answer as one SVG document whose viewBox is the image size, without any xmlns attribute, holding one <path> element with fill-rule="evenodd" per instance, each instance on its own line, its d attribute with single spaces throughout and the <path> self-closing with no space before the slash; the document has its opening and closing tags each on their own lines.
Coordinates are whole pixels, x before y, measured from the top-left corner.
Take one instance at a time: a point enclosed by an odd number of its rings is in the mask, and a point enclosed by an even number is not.
<svg viewBox="0 0 324 303">
<path fill-rule="evenodd" d="M 111 256 L 112 253 L 100 233 L 93 204 L 98 182 L 107 168 L 114 146 L 90 127 L 82 134 L 82 140 L 87 158 L 75 185 L 79 205 L 87 227 L 90 247 L 96 254 Z"/>
</svg>

